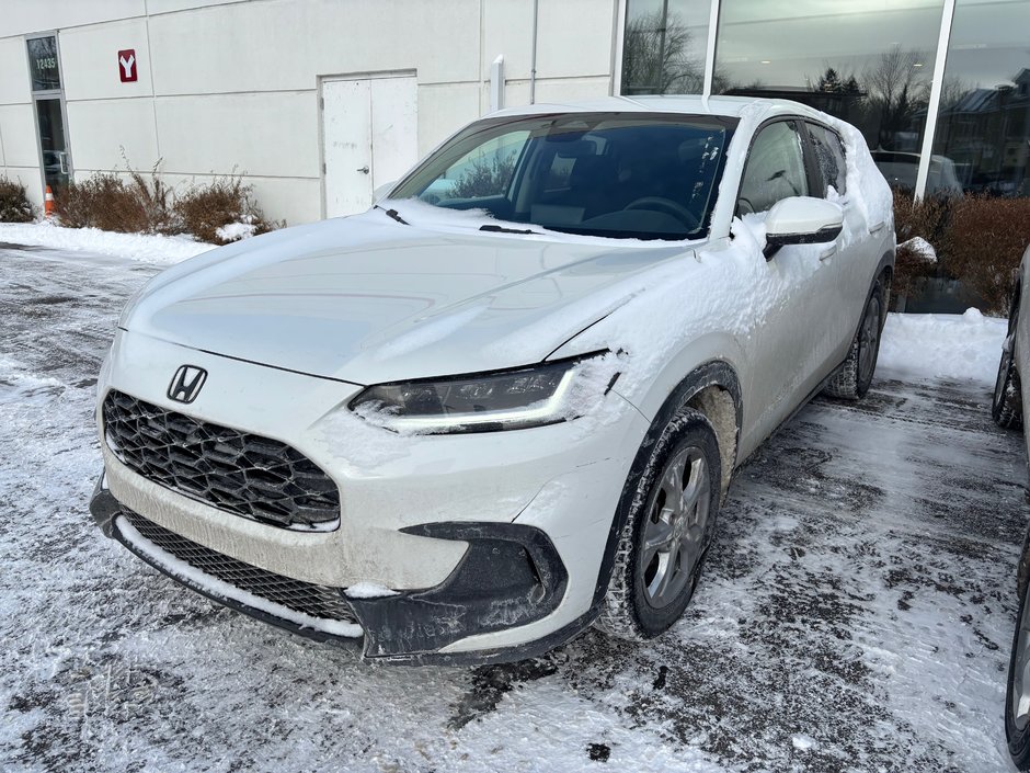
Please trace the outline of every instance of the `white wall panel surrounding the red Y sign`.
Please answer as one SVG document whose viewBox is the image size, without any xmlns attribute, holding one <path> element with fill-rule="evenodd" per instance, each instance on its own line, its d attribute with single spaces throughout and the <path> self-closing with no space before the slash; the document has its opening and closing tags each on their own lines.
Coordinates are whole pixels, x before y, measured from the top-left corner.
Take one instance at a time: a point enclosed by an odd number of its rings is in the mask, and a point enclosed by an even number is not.
<svg viewBox="0 0 1030 773">
<path fill-rule="evenodd" d="M 60 33 L 61 75 L 65 99 L 115 99 L 150 94 L 150 52 L 147 22 L 125 22 L 62 30 Z M 118 52 L 136 50 L 135 82 L 123 83 Z"/>
</svg>

